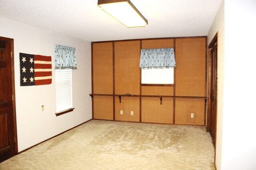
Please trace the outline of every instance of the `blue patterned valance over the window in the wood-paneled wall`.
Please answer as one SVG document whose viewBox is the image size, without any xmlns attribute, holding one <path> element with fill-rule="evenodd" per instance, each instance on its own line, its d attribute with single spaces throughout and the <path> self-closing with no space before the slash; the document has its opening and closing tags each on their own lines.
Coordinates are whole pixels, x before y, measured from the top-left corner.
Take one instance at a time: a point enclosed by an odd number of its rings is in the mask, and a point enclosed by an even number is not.
<svg viewBox="0 0 256 170">
<path fill-rule="evenodd" d="M 176 67 L 174 49 L 141 49 L 140 68 Z"/>
</svg>

